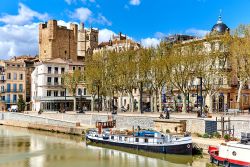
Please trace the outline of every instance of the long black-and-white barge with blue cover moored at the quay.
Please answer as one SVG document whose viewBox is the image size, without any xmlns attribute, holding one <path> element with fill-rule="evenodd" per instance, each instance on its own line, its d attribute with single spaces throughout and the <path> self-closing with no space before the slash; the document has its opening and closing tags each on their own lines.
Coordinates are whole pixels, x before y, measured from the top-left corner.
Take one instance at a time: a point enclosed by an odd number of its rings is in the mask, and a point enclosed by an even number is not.
<svg viewBox="0 0 250 167">
<path fill-rule="evenodd" d="M 132 135 L 112 134 L 110 131 L 90 131 L 86 139 L 93 143 L 108 144 L 164 154 L 192 155 L 192 138 L 177 137 L 157 131 L 141 130 Z"/>
</svg>

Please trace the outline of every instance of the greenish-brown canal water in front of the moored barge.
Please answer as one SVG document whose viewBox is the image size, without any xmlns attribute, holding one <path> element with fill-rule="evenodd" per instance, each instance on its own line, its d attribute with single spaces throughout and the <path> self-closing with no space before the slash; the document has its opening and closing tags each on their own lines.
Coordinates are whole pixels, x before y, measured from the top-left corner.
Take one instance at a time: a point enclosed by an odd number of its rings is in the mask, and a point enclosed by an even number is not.
<svg viewBox="0 0 250 167">
<path fill-rule="evenodd" d="M 186 167 L 210 166 L 207 158 L 114 150 L 80 137 L 0 126 L 0 167 Z"/>
</svg>

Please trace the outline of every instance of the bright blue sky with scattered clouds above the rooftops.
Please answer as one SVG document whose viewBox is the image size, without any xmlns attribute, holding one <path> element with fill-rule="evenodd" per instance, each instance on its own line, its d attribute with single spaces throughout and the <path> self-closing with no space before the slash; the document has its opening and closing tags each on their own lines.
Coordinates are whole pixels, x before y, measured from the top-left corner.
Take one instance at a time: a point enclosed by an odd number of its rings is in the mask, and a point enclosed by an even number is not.
<svg viewBox="0 0 250 167">
<path fill-rule="evenodd" d="M 41 21 L 84 22 L 100 41 L 123 32 L 144 46 L 164 35 L 203 36 L 222 19 L 231 29 L 250 23 L 249 0 L 0 0 L 0 59 L 38 53 Z"/>
</svg>

